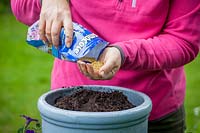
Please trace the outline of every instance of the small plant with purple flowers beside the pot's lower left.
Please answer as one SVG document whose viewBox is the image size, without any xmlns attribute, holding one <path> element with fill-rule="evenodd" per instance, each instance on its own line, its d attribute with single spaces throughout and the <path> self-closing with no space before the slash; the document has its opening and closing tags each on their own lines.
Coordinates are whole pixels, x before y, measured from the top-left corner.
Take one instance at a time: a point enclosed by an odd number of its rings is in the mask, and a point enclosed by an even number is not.
<svg viewBox="0 0 200 133">
<path fill-rule="evenodd" d="M 41 124 L 38 119 L 33 119 L 26 115 L 20 115 L 26 120 L 23 127 L 18 129 L 17 133 L 41 133 Z M 31 124 L 32 123 L 32 124 Z"/>
</svg>

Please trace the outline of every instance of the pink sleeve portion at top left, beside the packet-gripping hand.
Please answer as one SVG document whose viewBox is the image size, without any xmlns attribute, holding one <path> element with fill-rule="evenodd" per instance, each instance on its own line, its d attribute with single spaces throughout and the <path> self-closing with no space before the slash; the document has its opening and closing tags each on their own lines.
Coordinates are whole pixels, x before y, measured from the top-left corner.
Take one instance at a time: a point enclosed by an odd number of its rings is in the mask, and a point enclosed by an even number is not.
<svg viewBox="0 0 200 133">
<path fill-rule="evenodd" d="M 40 0 L 11 0 L 12 12 L 18 21 L 30 26 L 39 19 Z"/>
</svg>

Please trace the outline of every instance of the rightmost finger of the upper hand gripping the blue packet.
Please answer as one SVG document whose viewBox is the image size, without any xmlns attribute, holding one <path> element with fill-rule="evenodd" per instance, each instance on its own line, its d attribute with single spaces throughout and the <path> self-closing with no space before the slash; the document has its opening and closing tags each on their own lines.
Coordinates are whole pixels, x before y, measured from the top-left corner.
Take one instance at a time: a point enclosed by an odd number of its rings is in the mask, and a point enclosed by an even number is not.
<svg viewBox="0 0 200 133">
<path fill-rule="evenodd" d="M 72 40 L 73 40 L 73 24 L 72 24 L 72 21 L 66 20 L 66 21 L 64 21 L 63 25 L 64 25 L 65 35 L 66 35 L 65 43 L 66 43 L 67 47 L 70 47 Z"/>
</svg>

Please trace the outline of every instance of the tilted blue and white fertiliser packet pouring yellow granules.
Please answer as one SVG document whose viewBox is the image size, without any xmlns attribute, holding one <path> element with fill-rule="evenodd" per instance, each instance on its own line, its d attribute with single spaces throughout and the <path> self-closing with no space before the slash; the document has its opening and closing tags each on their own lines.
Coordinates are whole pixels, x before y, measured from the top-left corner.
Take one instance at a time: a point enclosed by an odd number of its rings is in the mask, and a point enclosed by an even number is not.
<svg viewBox="0 0 200 133">
<path fill-rule="evenodd" d="M 40 40 L 39 21 L 28 28 L 27 43 L 39 50 L 52 54 L 61 60 L 76 62 L 80 58 L 94 58 L 98 60 L 99 55 L 109 44 L 107 41 L 90 32 L 80 24 L 73 22 L 73 41 L 68 48 L 65 44 L 65 30 L 61 29 L 59 47 L 56 49 L 52 44 Z"/>
</svg>

